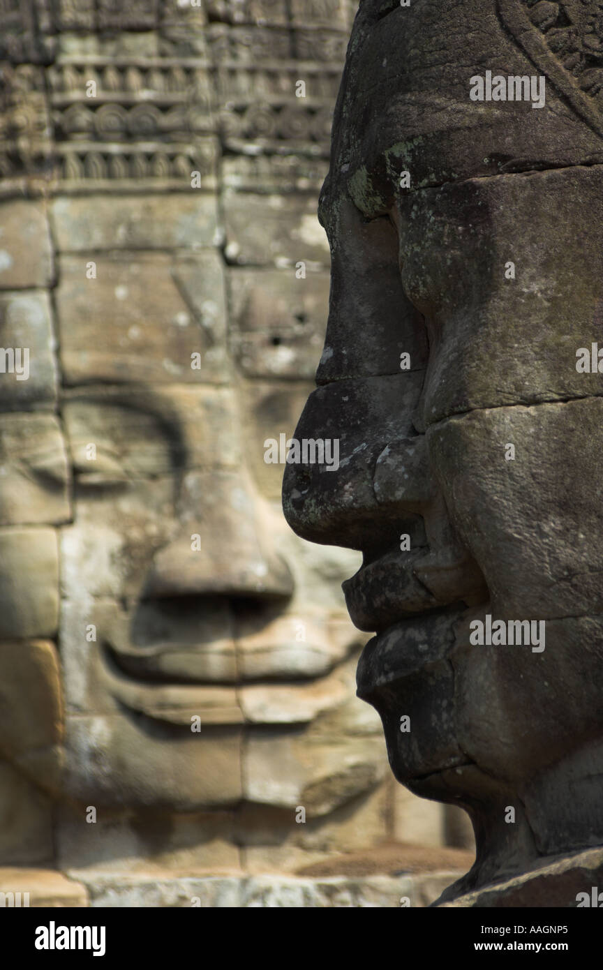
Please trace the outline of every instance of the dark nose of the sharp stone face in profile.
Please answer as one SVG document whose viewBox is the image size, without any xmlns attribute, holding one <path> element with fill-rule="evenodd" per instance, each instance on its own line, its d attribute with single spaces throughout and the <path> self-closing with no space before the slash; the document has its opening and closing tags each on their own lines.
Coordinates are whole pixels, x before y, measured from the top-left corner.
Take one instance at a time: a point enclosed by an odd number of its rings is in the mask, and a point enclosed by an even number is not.
<svg viewBox="0 0 603 970">
<path fill-rule="evenodd" d="M 365 550 L 423 512 L 434 489 L 425 437 L 412 425 L 422 379 L 410 372 L 340 380 L 310 395 L 295 440 L 336 439 L 338 466 L 288 464 L 283 509 L 294 532 Z"/>
</svg>

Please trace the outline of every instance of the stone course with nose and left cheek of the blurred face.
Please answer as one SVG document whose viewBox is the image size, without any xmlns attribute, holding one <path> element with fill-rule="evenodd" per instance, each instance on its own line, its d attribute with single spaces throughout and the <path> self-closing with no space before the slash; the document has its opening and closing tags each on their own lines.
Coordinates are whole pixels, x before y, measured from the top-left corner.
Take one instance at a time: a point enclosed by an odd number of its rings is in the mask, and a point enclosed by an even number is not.
<svg viewBox="0 0 603 970">
<path fill-rule="evenodd" d="M 291 595 L 291 571 L 266 532 L 269 511 L 240 475 L 191 471 L 180 488 L 162 476 L 109 495 L 105 486 L 104 523 L 102 490 L 96 482 L 82 489 L 78 522 L 62 533 L 68 597 Z"/>
</svg>

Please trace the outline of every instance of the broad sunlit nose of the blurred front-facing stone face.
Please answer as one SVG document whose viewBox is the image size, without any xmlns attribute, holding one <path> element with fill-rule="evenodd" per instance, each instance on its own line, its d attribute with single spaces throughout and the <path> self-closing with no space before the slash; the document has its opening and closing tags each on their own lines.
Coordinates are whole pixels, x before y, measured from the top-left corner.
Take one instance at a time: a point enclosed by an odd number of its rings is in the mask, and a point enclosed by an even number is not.
<svg viewBox="0 0 603 970">
<path fill-rule="evenodd" d="M 293 576 L 273 546 L 269 509 L 246 475 L 188 472 L 179 518 L 175 538 L 153 558 L 144 598 L 292 596 Z"/>
</svg>

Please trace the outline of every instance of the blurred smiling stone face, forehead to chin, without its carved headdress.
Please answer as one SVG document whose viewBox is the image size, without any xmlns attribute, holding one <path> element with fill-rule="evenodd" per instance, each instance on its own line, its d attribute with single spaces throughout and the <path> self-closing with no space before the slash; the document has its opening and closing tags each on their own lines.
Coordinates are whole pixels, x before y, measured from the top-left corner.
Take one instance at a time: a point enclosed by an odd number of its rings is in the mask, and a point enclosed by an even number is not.
<svg viewBox="0 0 603 970">
<path fill-rule="evenodd" d="M 252 201 L 235 196 L 229 214 Z M 310 204 L 289 200 L 250 235 L 307 233 Z M 316 831 L 310 858 L 323 823 L 335 846 L 339 827 L 344 844 L 362 845 L 382 824 L 383 740 L 354 696 L 365 636 L 340 591 L 358 554 L 291 533 L 282 465 L 264 461 L 265 441 L 291 436 L 309 391 L 329 277 L 247 269 L 235 228 L 241 265 L 227 270 L 219 252 L 190 244 L 204 212 L 213 238 L 214 205 L 175 195 L 160 238 L 149 199 L 52 203 L 56 369 L 48 301 L 15 275 L 25 251 L 49 263 L 42 209 L 3 207 L 16 239 L 28 226 L 41 240 L 40 251 L 6 242 L 15 289 L 2 296 L 3 342 L 30 344 L 30 372 L 2 384 L 14 409 L 0 416 L 0 661 L 7 723 L 18 718 L 3 750 L 61 802 L 64 864 L 98 863 L 117 839 L 141 864 L 185 844 L 197 868 L 237 868 L 249 841 L 259 865 L 270 827 L 278 849 L 264 864 L 295 866 L 298 806 Z M 194 228 L 173 253 L 170 232 L 185 223 Z M 96 234 L 92 262 L 76 224 Z M 79 250 L 66 252 L 74 239 Z M 118 252 L 115 240 L 126 241 Z M 164 248 L 141 253 L 142 240 Z M 81 806 L 96 809 L 96 826 Z M 358 836 L 347 830 L 355 812 Z M 162 835 L 159 816 L 183 821 Z"/>
</svg>

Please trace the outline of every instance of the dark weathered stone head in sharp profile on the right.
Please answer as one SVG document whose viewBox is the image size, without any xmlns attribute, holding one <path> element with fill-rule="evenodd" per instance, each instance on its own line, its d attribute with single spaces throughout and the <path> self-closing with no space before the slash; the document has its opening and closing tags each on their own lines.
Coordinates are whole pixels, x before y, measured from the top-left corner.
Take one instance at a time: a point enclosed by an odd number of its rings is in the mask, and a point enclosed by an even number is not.
<svg viewBox="0 0 603 970">
<path fill-rule="evenodd" d="M 366 0 L 321 197 L 331 307 L 296 436 L 340 461 L 286 469 L 284 507 L 364 554 L 359 695 L 397 779 L 471 816 L 456 892 L 603 843 L 603 383 L 576 367 L 601 334 L 598 30 L 592 4 Z M 545 78 L 544 103 L 472 99 L 486 70 Z M 472 642 L 488 617 L 542 649 Z"/>
</svg>

